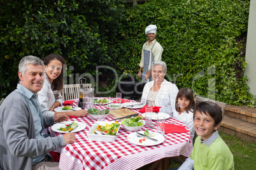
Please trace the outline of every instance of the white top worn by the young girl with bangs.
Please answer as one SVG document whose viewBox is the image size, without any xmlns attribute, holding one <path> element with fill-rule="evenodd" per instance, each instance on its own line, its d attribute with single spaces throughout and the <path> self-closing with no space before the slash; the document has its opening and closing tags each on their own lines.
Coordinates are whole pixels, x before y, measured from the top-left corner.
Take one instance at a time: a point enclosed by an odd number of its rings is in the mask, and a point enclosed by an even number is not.
<svg viewBox="0 0 256 170">
<path fill-rule="evenodd" d="M 193 112 L 190 111 L 188 111 L 188 113 L 184 111 L 181 114 L 179 114 L 177 111 L 173 112 L 173 118 L 183 122 L 188 127 L 192 140 L 195 134 L 193 115 Z"/>
</svg>

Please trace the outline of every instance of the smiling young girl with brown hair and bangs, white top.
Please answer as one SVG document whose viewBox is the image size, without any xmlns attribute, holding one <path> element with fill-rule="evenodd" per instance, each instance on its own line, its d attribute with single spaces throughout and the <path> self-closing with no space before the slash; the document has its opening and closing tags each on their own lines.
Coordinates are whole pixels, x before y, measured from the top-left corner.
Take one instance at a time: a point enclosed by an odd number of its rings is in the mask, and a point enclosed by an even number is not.
<svg viewBox="0 0 256 170">
<path fill-rule="evenodd" d="M 190 130 L 191 138 L 194 138 L 193 107 L 195 105 L 193 92 L 189 88 L 182 88 L 178 92 L 175 100 L 177 112 L 173 113 L 174 119 L 183 122 Z"/>
</svg>

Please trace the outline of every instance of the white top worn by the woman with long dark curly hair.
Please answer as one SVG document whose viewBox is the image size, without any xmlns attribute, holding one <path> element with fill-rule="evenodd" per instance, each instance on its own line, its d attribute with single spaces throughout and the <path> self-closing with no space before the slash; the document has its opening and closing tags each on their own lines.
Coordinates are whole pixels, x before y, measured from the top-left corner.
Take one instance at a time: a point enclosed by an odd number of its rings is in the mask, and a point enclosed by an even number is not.
<svg viewBox="0 0 256 170">
<path fill-rule="evenodd" d="M 46 117 L 51 117 L 54 115 L 54 112 L 49 111 L 49 109 L 50 107 L 52 107 L 55 101 L 59 101 L 60 105 L 62 105 L 63 102 L 63 98 L 60 92 L 58 93 L 57 98 L 55 98 L 54 93 L 52 91 L 52 86 L 46 74 L 45 84 L 43 84 L 43 88 L 38 92 L 38 101 L 40 103 L 43 116 Z"/>
</svg>

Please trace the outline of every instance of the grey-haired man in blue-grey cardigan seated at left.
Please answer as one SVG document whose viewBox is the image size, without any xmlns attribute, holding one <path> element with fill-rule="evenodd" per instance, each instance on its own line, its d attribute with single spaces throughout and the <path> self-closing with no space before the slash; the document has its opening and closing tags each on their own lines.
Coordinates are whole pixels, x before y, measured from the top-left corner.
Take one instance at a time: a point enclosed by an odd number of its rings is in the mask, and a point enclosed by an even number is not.
<svg viewBox="0 0 256 170">
<path fill-rule="evenodd" d="M 0 169 L 59 169 L 48 153 L 75 142 L 75 134 L 45 138 L 43 129 L 54 121 L 67 121 L 65 114 L 42 115 L 38 91 L 45 81 L 45 66 L 36 56 L 25 56 L 18 65 L 20 79 L 0 107 Z"/>
</svg>

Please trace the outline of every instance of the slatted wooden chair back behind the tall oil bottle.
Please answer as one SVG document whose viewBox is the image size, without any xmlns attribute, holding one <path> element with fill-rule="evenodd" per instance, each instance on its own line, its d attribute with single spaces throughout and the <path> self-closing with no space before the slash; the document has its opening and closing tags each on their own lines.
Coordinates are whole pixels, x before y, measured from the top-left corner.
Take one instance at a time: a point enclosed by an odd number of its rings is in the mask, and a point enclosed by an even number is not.
<svg viewBox="0 0 256 170">
<path fill-rule="evenodd" d="M 84 88 L 90 88 L 92 84 L 84 84 Z M 62 97 L 63 100 L 72 100 L 79 98 L 80 95 L 80 84 L 64 84 Z"/>
</svg>

